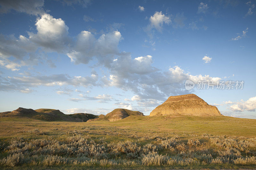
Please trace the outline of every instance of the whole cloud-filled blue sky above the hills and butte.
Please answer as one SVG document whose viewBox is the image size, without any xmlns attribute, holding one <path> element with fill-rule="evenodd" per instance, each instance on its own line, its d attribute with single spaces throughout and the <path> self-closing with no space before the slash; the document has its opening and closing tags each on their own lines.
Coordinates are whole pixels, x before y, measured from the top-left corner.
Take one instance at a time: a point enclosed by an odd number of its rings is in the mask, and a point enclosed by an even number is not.
<svg viewBox="0 0 256 170">
<path fill-rule="evenodd" d="M 194 93 L 223 115 L 255 118 L 255 4 L 1 1 L 0 112 L 149 115 L 169 96 Z M 229 80 L 243 89 L 216 89 Z M 202 82 L 214 89 L 198 90 Z"/>
</svg>

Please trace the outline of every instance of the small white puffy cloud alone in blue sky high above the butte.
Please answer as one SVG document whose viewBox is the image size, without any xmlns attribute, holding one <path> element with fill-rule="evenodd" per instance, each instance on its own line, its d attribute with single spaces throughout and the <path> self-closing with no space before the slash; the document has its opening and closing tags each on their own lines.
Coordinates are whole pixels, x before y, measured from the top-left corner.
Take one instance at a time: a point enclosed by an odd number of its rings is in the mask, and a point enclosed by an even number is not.
<svg viewBox="0 0 256 170">
<path fill-rule="evenodd" d="M 162 31 L 163 24 L 170 24 L 172 20 L 170 17 L 162 14 L 162 11 L 156 11 L 153 16 L 149 18 L 151 28 L 156 28 L 159 32 Z"/>
</svg>

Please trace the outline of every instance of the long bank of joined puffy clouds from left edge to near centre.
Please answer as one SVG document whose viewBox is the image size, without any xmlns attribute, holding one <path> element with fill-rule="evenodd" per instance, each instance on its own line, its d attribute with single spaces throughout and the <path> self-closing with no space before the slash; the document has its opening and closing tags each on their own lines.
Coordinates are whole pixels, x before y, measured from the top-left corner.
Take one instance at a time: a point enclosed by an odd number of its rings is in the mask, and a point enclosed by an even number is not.
<svg viewBox="0 0 256 170">
<path fill-rule="evenodd" d="M 118 50 L 122 35 L 117 30 L 102 34 L 99 38 L 88 31 L 82 31 L 77 35 L 76 41 L 72 41 L 68 26 L 61 18 L 43 14 L 37 18 L 35 25 L 37 32 L 28 32 L 28 38 L 20 35 L 17 39 L 14 35 L 0 34 L 2 67 L 18 70 L 21 66 L 32 66 L 42 61 L 52 68 L 56 67 L 52 60 L 40 55 L 43 52 L 67 54 L 76 64 L 88 63 L 94 59 L 101 64 L 110 64 L 114 60 L 114 55 L 123 55 Z M 20 62 L 8 61 L 7 59 L 12 56 Z"/>
</svg>

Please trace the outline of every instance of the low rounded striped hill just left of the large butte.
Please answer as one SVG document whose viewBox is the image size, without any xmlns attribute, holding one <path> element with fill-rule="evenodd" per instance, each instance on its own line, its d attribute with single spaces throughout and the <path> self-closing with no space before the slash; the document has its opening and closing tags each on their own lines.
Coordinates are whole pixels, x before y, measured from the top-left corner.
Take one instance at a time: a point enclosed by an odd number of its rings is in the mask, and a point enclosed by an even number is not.
<svg viewBox="0 0 256 170">
<path fill-rule="evenodd" d="M 135 116 L 143 116 L 143 113 L 139 111 L 132 111 L 128 109 L 114 109 L 112 112 L 108 113 L 107 115 L 99 115 L 96 119 L 90 119 L 88 122 L 91 121 L 118 121 L 120 119 L 124 119 L 128 116 L 135 115 Z"/>
</svg>

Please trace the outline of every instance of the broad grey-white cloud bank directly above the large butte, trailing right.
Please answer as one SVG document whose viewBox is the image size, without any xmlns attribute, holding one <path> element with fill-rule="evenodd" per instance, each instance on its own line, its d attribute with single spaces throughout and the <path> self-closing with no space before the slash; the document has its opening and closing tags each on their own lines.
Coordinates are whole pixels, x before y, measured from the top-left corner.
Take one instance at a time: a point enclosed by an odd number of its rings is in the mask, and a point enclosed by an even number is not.
<svg viewBox="0 0 256 170">
<path fill-rule="evenodd" d="M 111 64 L 109 76 L 104 76 L 101 81 L 107 86 L 115 86 L 123 90 L 131 90 L 135 97 L 141 99 L 165 100 L 170 95 L 185 94 L 187 91 L 184 82 L 188 79 L 198 81 L 214 81 L 220 78 L 209 75 L 191 75 L 179 66 L 171 67 L 168 71 L 161 71 L 152 66 L 153 57 L 150 55 L 136 57 L 118 57 Z M 132 69 L 131 69 L 132 66 Z"/>
</svg>

